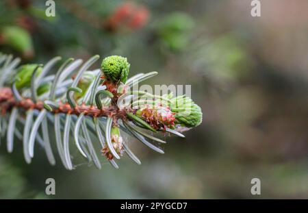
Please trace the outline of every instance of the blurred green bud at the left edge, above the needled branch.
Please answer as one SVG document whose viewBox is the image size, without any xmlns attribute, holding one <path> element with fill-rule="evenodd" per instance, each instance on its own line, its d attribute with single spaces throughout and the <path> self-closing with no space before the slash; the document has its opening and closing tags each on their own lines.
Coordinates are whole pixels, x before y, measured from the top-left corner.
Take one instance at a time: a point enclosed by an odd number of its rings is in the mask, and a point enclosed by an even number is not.
<svg viewBox="0 0 308 213">
<path fill-rule="evenodd" d="M 34 50 L 31 36 L 25 29 L 16 26 L 4 27 L 1 30 L 1 36 L 4 39 L 5 45 L 9 45 L 25 56 L 33 55 Z"/>
</svg>

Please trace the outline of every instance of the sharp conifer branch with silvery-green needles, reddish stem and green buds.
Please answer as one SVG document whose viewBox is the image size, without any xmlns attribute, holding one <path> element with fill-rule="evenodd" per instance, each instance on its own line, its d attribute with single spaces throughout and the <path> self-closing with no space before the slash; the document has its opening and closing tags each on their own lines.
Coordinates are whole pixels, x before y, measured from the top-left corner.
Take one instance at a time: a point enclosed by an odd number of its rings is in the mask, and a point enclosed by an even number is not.
<svg viewBox="0 0 308 213">
<path fill-rule="evenodd" d="M 105 58 L 101 69 L 88 71 L 98 59 L 99 56 L 94 55 L 84 64 L 82 60 L 68 59 L 55 75 L 47 75 L 60 57 L 44 66 L 27 64 L 17 68 L 18 58 L 13 60 L 12 55 L 0 54 L 0 139 L 7 132 L 8 152 L 14 149 L 14 138 L 23 138 L 23 153 L 29 164 L 38 142 L 50 164 L 54 165 L 49 138 L 49 131 L 53 129 L 57 153 L 68 170 L 75 168 L 70 157 L 70 139 L 75 140 L 84 158 L 101 168 L 91 136 L 98 138 L 101 155 L 118 168 L 115 160 L 120 160 L 124 153 L 136 164 L 141 164 L 121 132 L 164 153 L 155 143 L 160 145 L 166 141 L 146 131 L 184 138 L 179 131 L 201 123 L 201 109 L 188 97 L 130 91 L 137 82 L 157 75 L 156 72 L 140 73 L 127 79 L 130 64 L 126 58 L 116 55 Z M 23 131 L 18 130 L 18 123 L 23 124 Z"/>
</svg>

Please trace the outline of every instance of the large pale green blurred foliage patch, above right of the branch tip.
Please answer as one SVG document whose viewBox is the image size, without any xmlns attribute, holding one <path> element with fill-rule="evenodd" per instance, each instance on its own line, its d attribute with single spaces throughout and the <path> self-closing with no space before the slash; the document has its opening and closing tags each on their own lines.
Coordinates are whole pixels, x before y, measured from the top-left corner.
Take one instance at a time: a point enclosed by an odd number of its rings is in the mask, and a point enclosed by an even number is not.
<svg viewBox="0 0 308 213">
<path fill-rule="evenodd" d="M 252 68 L 249 53 L 232 34 L 198 45 L 188 58 L 192 60 L 194 71 L 223 81 L 245 77 Z"/>
</svg>

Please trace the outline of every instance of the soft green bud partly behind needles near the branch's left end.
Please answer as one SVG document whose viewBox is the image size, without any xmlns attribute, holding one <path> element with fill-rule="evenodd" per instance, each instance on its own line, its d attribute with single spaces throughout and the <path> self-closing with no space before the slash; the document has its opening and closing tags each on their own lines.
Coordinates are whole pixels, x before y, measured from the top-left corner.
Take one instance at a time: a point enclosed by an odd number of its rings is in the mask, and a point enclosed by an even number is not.
<svg viewBox="0 0 308 213">
<path fill-rule="evenodd" d="M 29 88 L 31 86 L 31 77 L 38 64 L 25 64 L 20 66 L 16 76 L 16 88 Z M 36 77 L 42 72 L 42 67 L 36 71 Z"/>
</svg>

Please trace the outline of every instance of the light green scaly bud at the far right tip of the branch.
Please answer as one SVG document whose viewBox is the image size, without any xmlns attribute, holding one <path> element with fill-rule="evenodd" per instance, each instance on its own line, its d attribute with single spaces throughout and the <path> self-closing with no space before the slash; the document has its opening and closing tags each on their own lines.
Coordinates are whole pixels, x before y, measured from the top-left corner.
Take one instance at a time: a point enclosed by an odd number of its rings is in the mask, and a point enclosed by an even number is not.
<svg viewBox="0 0 308 213">
<path fill-rule="evenodd" d="M 175 112 L 175 118 L 179 125 L 183 127 L 196 127 L 201 124 L 201 108 L 190 97 L 175 97 L 171 99 L 171 103 L 171 111 Z"/>
</svg>

